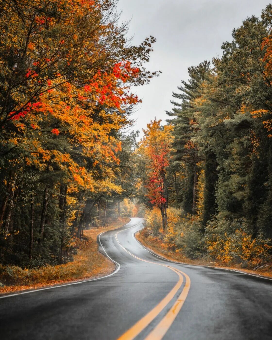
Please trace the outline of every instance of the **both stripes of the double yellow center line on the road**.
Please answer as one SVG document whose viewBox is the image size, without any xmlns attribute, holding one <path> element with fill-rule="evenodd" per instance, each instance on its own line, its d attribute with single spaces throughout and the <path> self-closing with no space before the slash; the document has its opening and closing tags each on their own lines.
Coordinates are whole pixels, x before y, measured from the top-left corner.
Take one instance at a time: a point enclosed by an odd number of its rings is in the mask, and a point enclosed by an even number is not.
<svg viewBox="0 0 272 340">
<path fill-rule="evenodd" d="M 133 226 L 135 227 L 135 226 Z M 131 228 L 133 228 L 131 227 Z M 128 229 L 131 229 L 128 228 Z M 125 230 L 128 230 L 125 229 Z M 123 335 L 121 335 L 117 340 L 132 340 L 134 339 L 138 334 L 141 333 L 143 329 L 145 329 L 152 320 L 156 318 L 156 316 L 167 306 L 167 304 L 173 299 L 177 291 L 181 288 L 182 283 L 183 283 L 183 274 L 185 276 L 186 282 L 185 286 L 173 304 L 173 306 L 170 308 L 170 310 L 167 312 L 165 317 L 157 324 L 157 326 L 149 333 L 149 335 L 145 338 L 145 340 L 160 340 L 164 337 L 168 329 L 170 328 L 171 324 L 175 320 L 177 314 L 181 310 L 181 307 L 183 306 L 183 303 L 188 295 L 191 281 L 188 275 L 186 275 L 184 272 L 182 272 L 179 269 L 176 269 L 171 266 L 163 265 L 162 263 L 156 263 L 148 260 L 144 260 L 138 256 L 133 255 L 131 252 L 129 252 L 127 249 L 124 248 L 124 246 L 119 242 L 117 235 L 121 233 L 123 230 L 120 230 L 115 234 L 116 241 L 118 244 L 122 247 L 122 249 L 133 256 L 134 258 L 143 261 L 143 262 L 148 262 L 153 265 L 157 266 L 163 266 L 167 267 L 173 272 L 175 272 L 179 276 L 179 281 L 176 283 L 174 288 L 164 297 L 162 301 L 160 301 L 150 312 L 148 312 L 143 318 L 141 318 L 138 322 L 136 322 L 130 329 L 128 329 Z"/>
</svg>

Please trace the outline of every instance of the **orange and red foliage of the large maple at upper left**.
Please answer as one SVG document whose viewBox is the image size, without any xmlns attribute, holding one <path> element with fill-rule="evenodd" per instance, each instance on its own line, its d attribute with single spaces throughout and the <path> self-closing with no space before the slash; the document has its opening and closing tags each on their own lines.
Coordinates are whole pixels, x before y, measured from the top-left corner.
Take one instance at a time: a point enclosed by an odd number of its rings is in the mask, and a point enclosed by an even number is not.
<svg viewBox="0 0 272 340">
<path fill-rule="evenodd" d="M 20 145 L 28 165 L 45 168 L 52 160 L 93 189 L 85 167 L 69 152 L 48 149 L 44 138 L 65 137 L 94 165 L 118 164 L 112 131 L 129 124 L 126 111 L 139 102 L 130 84 L 155 75 L 142 66 L 154 39 L 127 47 L 111 1 L 22 0 L 5 12 L 1 55 L 10 54 L 12 67 L 1 58 L 0 126 L 3 134 L 14 131 L 3 138 L 5 149 Z"/>
</svg>

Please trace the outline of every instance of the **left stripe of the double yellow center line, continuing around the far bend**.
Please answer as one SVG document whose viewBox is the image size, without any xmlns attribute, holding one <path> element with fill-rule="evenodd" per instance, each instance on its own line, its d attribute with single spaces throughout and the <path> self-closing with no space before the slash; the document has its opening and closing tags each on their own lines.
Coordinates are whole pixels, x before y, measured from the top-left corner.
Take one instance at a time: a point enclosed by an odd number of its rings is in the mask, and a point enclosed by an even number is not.
<svg viewBox="0 0 272 340">
<path fill-rule="evenodd" d="M 134 226 L 133 226 L 134 227 Z M 131 227 L 131 228 L 133 228 Z M 128 228 L 128 229 L 131 229 Z M 127 230 L 127 229 L 125 229 Z M 120 230 L 119 232 L 117 232 L 115 234 L 115 238 L 117 240 L 117 242 L 119 243 L 119 245 L 123 248 L 124 251 L 126 251 L 128 254 L 130 254 L 131 256 L 133 256 L 134 258 L 143 261 L 143 262 L 148 262 L 157 266 L 163 266 L 166 268 L 169 268 L 170 270 L 172 270 L 173 272 L 175 272 L 178 276 L 179 276 L 179 281 L 176 283 L 176 285 L 174 286 L 174 288 L 164 297 L 164 299 L 162 301 L 160 301 L 150 312 L 148 312 L 143 318 L 141 318 L 138 322 L 136 322 L 130 329 L 128 329 L 123 335 L 121 335 L 117 340 L 132 340 L 134 339 L 138 334 L 141 333 L 141 331 L 143 329 L 145 329 L 152 320 L 155 319 L 155 317 L 167 306 L 167 304 L 173 299 L 173 297 L 175 296 L 176 292 L 180 289 L 182 283 L 183 283 L 183 277 L 181 274 L 184 274 L 182 271 L 175 269 L 171 266 L 167 266 L 167 265 L 163 265 L 161 263 L 156 263 L 156 262 L 152 262 L 152 261 L 148 261 L 148 260 L 144 260 L 136 255 L 133 255 L 131 252 L 129 252 L 127 249 L 124 248 L 124 246 L 119 242 L 117 235 L 122 232 L 123 230 Z M 181 273 L 181 274 L 180 274 Z M 184 274 L 186 279 L 187 279 L 187 275 Z M 189 277 L 188 277 L 189 278 Z M 190 279 L 189 279 L 190 280 Z M 187 284 L 187 281 L 186 281 Z M 185 287 L 186 287 L 185 284 Z M 189 290 L 189 289 L 188 289 Z M 188 292 L 187 292 L 188 294 Z M 186 294 L 186 296 L 187 296 Z M 180 295 L 181 296 L 181 295 Z M 179 298 L 180 298 L 179 296 Z M 185 300 L 185 299 L 184 299 Z M 177 300 L 178 301 L 178 300 Z M 182 307 L 182 305 L 180 306 L 180 308 Z M 179 310 L 180 310 L 179 308 Z M 173 320 L 174 321 L 174 320 Z M 169 325 L 170 327 L 170 325 Z M 168 327 L 168 328 L 169 328 Z"/>
</svg>

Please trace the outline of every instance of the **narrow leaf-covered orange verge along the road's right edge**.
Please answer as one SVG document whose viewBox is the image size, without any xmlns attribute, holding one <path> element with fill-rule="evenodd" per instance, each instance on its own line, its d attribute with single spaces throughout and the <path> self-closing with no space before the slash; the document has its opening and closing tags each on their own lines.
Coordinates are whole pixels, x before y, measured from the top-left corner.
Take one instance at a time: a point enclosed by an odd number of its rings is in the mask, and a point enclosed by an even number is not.
<svg viewBox="0 0 272 340">
<path fill-rule="evenodd" d="M 239 270 L 243 271 L 245 273 L 254 274 L 254 275 L 262 275 L 267 277 L 272 277 L 272 263 L 270 263 L 267 266 L 263 266 L 262 268 L 256 269 L 256 270 L 249 270 L 241 268 L 241 266 L 226 266 L 226 263 L 222 263 L 219 261 L 211 262 L 206 259 L 199 259 L 199 260 L 192 260 L 187 257 L 185 257 L 180 252 L 174 252 L 169 251 L 166 247 L 166 244 L 163 243 L 162 240 L 160 240 L 157 237 L 144 237 L 142 235 L 142 231 L 139 231 L 135 234 L 136 239 L 141 242 L 144 246 L 155 252 L 156 254 L 172 261 L 178 261 L 190 265 L 200 265 L 200 266 L 209 266 L 209 267 L 221 267 L 226 269 L 233 269 L 233 270 Z"/>
</svg>

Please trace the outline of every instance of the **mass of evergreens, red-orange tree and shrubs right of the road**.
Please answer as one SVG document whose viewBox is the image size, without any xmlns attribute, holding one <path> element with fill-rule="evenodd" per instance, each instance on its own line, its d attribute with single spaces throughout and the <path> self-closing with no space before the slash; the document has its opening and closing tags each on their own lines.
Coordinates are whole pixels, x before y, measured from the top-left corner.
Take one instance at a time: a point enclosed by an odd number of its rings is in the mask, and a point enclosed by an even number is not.
<svg viewBox="0 0 272 340">
<path fill-rule="evenodd" d="M 271 265 L 271 29 L 271 5 L 261 18 L 246 18 L 222 44 L 222 57 L 189 67 L 168 124 L 155 119 L 144 131 L 143 235 L 163 240 L 167 251 Z"/>
</svg>

